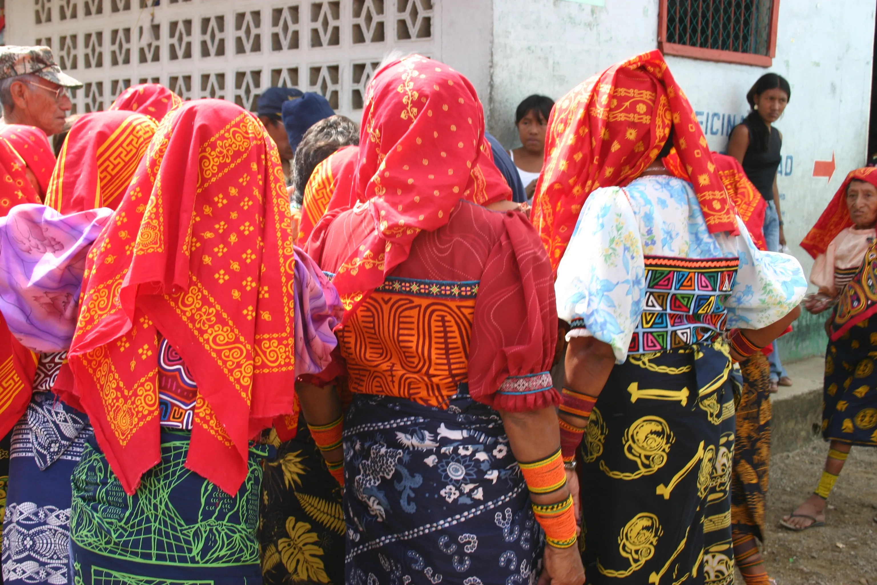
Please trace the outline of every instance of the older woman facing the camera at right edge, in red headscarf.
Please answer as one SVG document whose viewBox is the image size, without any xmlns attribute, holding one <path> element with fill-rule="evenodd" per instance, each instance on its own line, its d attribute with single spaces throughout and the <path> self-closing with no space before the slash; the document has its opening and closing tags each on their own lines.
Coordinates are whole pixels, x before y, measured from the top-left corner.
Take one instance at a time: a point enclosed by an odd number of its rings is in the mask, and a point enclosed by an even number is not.
<svg viewBox="0 0 877 585">
<path fill-rule="evenodd" d="M 873 244 L 877 225 L 877 168 L 859 168 L 846 180 L 801 242 L 816 260 L 810 273 L 818 291 L 804 307 L 832 309 L 825 324 L 823 438 L 831 441 L 816 491 L 781 525 L 801 531 L 825 523 L 825 502 L 853 445 L 877 446 L 877 373 L 871 321 L 877 311 Z"/>
</svg>

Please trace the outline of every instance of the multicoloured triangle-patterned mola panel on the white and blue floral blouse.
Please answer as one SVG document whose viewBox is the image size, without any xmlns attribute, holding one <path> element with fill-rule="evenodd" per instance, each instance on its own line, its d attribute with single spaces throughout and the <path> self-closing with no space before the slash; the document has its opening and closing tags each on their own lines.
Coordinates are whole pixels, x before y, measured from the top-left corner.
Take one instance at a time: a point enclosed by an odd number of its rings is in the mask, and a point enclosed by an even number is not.
<svg viewBox="0 0 877 585">
<path fill-rule="evenodd" d="M 663 352 L 724 331 L 737 258 L 645 257 L 645 303 L 628 353 Z"/>
</svg>

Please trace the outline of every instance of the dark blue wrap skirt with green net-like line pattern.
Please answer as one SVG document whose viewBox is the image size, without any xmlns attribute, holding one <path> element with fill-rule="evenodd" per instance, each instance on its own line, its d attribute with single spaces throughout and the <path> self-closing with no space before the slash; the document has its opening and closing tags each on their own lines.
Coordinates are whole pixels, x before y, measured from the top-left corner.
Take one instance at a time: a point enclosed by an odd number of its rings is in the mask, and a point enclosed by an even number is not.
<svg viewBox="0 0 877 585">
<path fill-rule="evenodd" d="M 189 432 L 161 431 L 161 461 L 125 494 L 95 439 L 73 472 L 75 585 L 259 585 L 261 460 L 235 496 L 184 467 Z"/>
</svg>

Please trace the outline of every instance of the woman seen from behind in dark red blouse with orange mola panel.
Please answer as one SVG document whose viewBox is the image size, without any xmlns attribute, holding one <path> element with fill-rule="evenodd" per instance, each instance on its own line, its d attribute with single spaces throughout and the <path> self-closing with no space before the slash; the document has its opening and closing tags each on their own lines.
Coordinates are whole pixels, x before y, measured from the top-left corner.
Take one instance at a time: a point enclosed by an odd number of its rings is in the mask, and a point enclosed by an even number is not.
<svg viewBox="0 0 877 585">
<path fill-rule="evenodd" d="M 346 582 L 527 582 L 537 523 L 545 577 L 584 580 L 548 373 L 551 266 L 523 214 L 482 206 L 510 196 L 489 157 L 463 75 L 389 63 L 367 90 L 360 203 L 310 236 L 346 307 L 343 424 L 331 391 L 299 393 L 344 469 Z"/>
</svg>

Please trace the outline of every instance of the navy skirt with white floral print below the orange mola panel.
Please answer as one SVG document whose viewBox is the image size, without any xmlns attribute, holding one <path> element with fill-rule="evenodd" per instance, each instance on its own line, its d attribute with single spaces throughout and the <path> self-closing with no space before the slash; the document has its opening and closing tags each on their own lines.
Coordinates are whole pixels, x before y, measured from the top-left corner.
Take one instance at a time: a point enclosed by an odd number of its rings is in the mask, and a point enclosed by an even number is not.
<svg viewBox="0 0 877 585">
<path fill-rule="evenodd" d="M 544 533 L 496 410 L 355 395 L 344 432 L 346 582 L 536 582 Z"/>
</svg>

